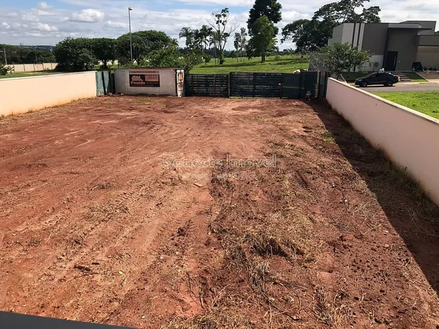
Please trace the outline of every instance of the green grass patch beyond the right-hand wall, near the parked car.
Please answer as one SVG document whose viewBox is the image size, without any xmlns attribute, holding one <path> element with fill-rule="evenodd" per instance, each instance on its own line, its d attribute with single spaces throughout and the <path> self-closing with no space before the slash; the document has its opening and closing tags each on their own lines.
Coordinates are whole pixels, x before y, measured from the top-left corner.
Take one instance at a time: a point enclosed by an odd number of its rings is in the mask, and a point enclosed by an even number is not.
<svg viewBox="0 0 439 329">
<path fill-rule="evenodd" d="M 439 92 L 377 93 L 375 95 L 439 119 Z"/>
</svg>

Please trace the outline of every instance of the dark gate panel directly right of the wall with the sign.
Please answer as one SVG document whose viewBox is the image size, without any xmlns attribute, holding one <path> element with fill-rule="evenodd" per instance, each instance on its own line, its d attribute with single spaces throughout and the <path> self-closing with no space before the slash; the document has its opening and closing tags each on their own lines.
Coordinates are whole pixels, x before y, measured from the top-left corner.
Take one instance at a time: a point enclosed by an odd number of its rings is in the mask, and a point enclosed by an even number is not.
<svg viewBox="0 0 439 329">
<path fill-rule="evenodd" d="M 228 97 L 228 74 L 188 74 L 185 95 Z"/>
</svg>

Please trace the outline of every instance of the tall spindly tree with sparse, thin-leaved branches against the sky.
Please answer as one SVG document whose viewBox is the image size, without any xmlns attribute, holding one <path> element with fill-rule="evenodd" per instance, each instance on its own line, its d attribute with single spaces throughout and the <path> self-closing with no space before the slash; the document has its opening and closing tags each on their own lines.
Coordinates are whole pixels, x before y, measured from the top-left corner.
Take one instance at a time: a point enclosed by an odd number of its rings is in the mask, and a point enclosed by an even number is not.
<svg viewBox="0 0 439 329">
<path fill-rule="evenodd" d="M 207 22 L 213 29 L 212 36 L 215 47 L 218 49 L 219 64 L 223 64 L 224 47 L 226 47 L 226 42 L 230 34 L 237 29 L 237 24 L 230 21 L 228 8 L 224 8 L 221 12 L 212 13 L 211 19 Z"/>
</svg>

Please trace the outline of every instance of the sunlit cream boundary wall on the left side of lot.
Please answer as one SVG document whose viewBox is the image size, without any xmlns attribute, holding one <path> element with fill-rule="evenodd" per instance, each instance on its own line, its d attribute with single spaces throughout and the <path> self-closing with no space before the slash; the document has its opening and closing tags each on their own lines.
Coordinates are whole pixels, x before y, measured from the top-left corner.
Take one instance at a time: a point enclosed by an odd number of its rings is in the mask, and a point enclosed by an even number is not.
<svg viewBox="0 0 439 329">
<path fill-rule="evenodd" d="M 0 114 L 40 110 L 95 96 L 95 71 L 0 79 Z"/>
</svg>

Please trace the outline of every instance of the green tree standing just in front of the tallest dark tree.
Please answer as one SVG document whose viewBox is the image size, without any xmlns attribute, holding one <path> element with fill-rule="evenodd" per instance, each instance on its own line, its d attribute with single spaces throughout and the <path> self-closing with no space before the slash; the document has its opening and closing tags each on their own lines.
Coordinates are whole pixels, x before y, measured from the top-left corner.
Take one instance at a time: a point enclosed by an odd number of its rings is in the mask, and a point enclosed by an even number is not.
<svg viewBox="0 0 439 329">
<path fill-rule="evenodd" d="M 274 25 L 267 16 L 261 16 L 252 25 L 252 38 L 248 42 L 248 53 L 252 56 L 261 56 L 261 63 L 265 62 L 265 55 L 274 49 Z"/>
</svg>

